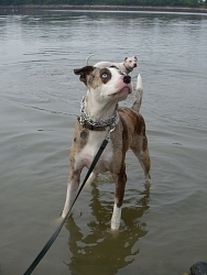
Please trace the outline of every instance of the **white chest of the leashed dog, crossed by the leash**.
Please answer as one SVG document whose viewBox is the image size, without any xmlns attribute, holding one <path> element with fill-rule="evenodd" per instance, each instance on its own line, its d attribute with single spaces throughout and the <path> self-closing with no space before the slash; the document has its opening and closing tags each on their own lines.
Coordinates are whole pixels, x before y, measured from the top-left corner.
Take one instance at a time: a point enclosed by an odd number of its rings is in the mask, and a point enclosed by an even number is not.
<svg viewBox="0 0 207 275">
<path fill-rule="evenodd" d="M 77 166 L 86 166 L 89 168 L 91 162 L 94 161 L 103 139 L 106 138 L 106 132 L 89 132 L 87 142 L 85 146 L 76 154 L 76 165 Z M 105 173 L 109 170 L 111 161 L 112 161 L 112 143 L 109 140 L 106 148 L 103 150 L 96 167 L 96 173 Z"/>
</svg>

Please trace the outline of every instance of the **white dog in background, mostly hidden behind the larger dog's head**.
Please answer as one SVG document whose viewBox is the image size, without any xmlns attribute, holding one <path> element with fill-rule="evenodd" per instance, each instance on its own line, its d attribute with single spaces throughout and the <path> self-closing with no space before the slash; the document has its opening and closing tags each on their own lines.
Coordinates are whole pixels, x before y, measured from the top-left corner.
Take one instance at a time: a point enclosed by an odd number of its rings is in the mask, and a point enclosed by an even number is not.
<svg viewBox="0 0 207 275">
<path fill-rule="evenodd" d="M 88 65 L 89 58 L 92 56 L 94 54 L 89 55 L 86 59 L 86 64 Z M 137 67 L 137 63 L 138 63 L 138 57 L 137 56 L 132 56 L 132 57 L 126 57 L 123 59 L 123 62 L 121 63 L 112 63 L 112 62 L 99 62 L 96 63 L 94 65 L 94 67 L 97 68 L 106 68 L 106 67 L 111 67 L 111 66 L 116 66 L 118 67 L 118 69 L 121 73 L 124 74 L 130 74 L 135 67 Z"/>
</svg>

